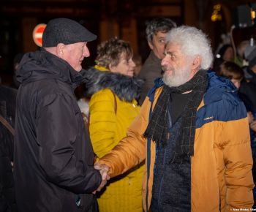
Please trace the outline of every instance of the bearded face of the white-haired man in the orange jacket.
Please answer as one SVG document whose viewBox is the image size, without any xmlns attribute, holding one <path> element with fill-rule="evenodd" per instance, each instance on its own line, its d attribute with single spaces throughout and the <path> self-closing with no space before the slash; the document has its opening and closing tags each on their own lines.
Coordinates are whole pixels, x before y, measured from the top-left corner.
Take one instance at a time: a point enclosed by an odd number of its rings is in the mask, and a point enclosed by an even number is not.
<svg viewBox="0 0 256 212">
<path fill-rule="evenodd" d="M 169 42 L 161 63 L 164 83 L 169 87 L 176 87 L 189 81 L 195 75 L 191 64 L 192 60 L 181 53 L 181 46 Z"/>
</svg>

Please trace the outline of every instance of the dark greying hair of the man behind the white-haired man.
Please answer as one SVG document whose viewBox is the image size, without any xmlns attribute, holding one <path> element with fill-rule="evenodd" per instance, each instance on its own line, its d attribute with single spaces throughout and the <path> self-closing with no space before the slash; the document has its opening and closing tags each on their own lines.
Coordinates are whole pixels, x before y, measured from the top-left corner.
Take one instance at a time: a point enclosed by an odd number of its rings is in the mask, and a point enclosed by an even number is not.
<svg viewBox="0 0 256 212">
<path fill-rule="evenodd" d="M 153 35 L 157 34 L 158 31 L 167 33 L 173 27 L 176 27 L 176 23 L 170 18 L 154 18 L 153 20 L 146 22 L 146 38 L 148 42 L 151 42 Z"/>
</svg>

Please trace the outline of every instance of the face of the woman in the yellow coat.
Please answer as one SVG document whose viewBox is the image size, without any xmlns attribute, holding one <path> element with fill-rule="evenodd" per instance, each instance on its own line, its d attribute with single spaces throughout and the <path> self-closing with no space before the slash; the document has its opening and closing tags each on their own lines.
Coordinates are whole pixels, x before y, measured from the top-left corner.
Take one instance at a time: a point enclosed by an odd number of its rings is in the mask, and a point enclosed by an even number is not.
<svg viewBox="0 0 256 212">
<path fill-rule="evenodd" d="M 116 72 L 116 73 L 119 73 L 121 75 L 126 75 L 126 76 L 129 76 L 129 77 L 133 77 L 134 69 L 135 69 L 135 63 L 134 63 L 134 61 L 132 61 L 132 58 L 127 59 L 127 56 L 124 53 L 122 53 L 119 63 L 115 67 L 113 67 L 110 64 L 109 69 L 110 69 L 110 72 Z"/>
</svg>

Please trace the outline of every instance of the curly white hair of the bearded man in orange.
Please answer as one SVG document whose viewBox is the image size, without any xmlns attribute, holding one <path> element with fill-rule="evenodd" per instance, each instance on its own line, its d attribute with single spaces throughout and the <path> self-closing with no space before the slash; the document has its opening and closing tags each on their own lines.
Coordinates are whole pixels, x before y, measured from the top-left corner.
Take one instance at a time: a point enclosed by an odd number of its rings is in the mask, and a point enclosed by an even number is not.
<svg viewBox="0 0 256 212">
<path fill-rule="evenodd" d="M 207 35 L 193 26 L 179 26 L 173 28 L 166 36 L 166 42 L 181 45 L 181 52 L 190 58 L 200 56 L 202 69 L 211 67 L 214 59 L 211 43 Z"/>
</svg>

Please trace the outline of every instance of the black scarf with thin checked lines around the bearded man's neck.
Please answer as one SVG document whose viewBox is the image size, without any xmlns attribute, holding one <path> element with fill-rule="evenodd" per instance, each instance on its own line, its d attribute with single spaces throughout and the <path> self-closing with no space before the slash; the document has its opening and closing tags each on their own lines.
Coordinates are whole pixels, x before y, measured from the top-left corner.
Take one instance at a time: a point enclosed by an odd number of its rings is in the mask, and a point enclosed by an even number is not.
<svg viewBox="0 0 256 212">
<path fill-rule="evenodd" d="M 181 114 L 181 127 L 177 129 L 178 137 L 176 140 L 176 148 L 173 150 L 175 157 L 184 158 L 194 155 L 195 140 L 195 116 L 197 107 L 203 99 L 203 94 L 208 86 L 208 76 L 206 70 L 198 71 L 195 76 L 178 87 L 164 86 L 162 93 L 157 99 L 157 104 L 148 123 L 148 127 L 144 136 L 154 140 L 159 145 L 167 143 L 170 123 L 168 123 L 167 105 L 170 102 L 170 94 L 183 94 L 186 91 L 192 91 L 193 94 L 188 100 L 184 111 Z M 170 135 L 171 136 L 171 135 Z"/>
</svg>

